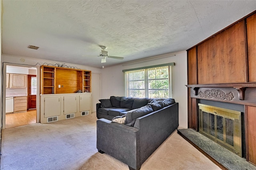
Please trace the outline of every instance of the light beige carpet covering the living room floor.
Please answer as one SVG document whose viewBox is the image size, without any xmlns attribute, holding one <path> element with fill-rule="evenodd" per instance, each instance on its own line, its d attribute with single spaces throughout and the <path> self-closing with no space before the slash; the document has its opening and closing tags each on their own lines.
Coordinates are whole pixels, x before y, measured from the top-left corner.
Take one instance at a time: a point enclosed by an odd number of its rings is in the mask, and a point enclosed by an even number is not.
<svg viewBox="0 0 256 170">
<path fill-rule="evenodd" d="M 128 170 L 96 148 L 96 114 L 2 130 L 1 170 Z M 153 139 L 152 139 L 153 140 Z M 141 170 L 219 170 L 175 131 Z"/>
</svg>

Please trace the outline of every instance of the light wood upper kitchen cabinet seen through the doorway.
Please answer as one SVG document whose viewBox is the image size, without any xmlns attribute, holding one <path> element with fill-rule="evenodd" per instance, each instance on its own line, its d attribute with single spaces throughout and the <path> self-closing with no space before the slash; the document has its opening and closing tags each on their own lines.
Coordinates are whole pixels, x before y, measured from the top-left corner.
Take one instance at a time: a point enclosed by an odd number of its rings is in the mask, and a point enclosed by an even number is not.
<svg viewBox="0 0 256 170">
<path fill-rule="evenodd" d="M 7 83 L 7 80 L 6 80 Z M 9 74 L 9 88 L 26 88 L 27 75 L 26 74 Z"/>
</svg>

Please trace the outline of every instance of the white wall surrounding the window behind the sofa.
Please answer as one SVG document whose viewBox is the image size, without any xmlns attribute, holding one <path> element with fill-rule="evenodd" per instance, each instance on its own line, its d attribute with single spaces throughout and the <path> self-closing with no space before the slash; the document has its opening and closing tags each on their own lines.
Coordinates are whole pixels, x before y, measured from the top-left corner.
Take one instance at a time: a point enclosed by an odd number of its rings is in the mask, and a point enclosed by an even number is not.
<svg viewBox="0 0 256 170">
<path fill-rule="evenodd" d="M 150 65 L 158 65 L 174 62 L 173 71 L 173 93 L 172 98 L 179 103 L 179 127 L 188 127 L 188 97 L 187 97 L 187 53 L 182 51 L 176 53 L 176 56 L 162 55 L 155 57 L 151 61 L 140 61 L 139 63 L 131 63 L 129 65 L 118 65 L 113 67 L 105 67 L 102 71 L 102 99 L 109 99 L 110 96 L 125 96 L 124 73 L 123 69 L 132 69 L 145 67 Z M 162 57 L 162 58 L 161 58 Z"/>
</svg>

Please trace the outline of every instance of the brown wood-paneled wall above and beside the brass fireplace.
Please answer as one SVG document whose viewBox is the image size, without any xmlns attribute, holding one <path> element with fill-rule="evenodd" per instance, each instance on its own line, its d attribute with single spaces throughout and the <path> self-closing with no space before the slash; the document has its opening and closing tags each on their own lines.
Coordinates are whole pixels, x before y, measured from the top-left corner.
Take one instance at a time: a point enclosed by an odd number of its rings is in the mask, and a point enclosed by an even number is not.
<svg viewBox="0 0 256 170">
<path fill-rule="evenodd" d="M 188 85 L 247 83 L 255 89 L 256 11 L 188 49 L 187 55 Z M 198 99 L 190 96 L 191 91 L 188 89 L 188 128 L 198 131 Z M 246 159 L 256 164 L 256 107 L 250 103 L 255 100 L 244 104 Z"/>
</svg>

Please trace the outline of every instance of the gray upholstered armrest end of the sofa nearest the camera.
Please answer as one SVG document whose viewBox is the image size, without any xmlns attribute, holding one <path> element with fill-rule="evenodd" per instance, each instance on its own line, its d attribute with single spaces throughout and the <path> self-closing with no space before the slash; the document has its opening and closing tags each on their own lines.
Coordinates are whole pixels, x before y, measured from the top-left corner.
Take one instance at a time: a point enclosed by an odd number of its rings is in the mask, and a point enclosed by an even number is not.
<svg viewBox="0 0 256 170">
<path fill-rule="evenodd" d="M 139 169 L 139 129 L 124 124 L 99 119 L 97 123 L 97 149 Z"/>
</svg>

